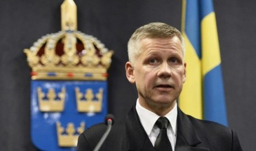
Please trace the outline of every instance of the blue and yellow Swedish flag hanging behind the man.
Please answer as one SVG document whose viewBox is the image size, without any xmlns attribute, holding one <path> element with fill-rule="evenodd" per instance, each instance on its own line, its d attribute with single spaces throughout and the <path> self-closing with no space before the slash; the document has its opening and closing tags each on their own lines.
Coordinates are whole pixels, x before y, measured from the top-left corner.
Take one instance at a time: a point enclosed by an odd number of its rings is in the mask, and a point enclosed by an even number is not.
<svg viewBox="0 0 256 151">
<path fill-rule="evenodd" d="M 219 40 L 211 0 L 183 0 L 187 79 L 179 107 L 193 117 L 227 125 Z"/>
</svg>

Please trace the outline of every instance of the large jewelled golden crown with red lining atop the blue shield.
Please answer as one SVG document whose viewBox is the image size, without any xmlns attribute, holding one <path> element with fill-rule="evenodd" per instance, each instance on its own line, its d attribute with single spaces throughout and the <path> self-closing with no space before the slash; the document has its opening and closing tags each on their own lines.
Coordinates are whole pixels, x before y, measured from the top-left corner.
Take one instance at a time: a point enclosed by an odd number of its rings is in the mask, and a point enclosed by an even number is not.
<svg viewBox="0 0 256 151">
<path fill-rule="evenodd" d="M 61 5 L 62 31 L 39 38 L 24 49 L 32 79 L 106 80 L 113 51 L 97 38 L 77 31 L 73 0 Z"/>
</svg>

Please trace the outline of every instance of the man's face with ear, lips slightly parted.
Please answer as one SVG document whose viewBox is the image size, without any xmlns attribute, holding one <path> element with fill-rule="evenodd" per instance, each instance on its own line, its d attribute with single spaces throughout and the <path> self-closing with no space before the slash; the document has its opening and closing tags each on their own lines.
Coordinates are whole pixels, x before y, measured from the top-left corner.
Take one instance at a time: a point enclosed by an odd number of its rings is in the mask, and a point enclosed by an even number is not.
<svg viewBox="0 0 256 151">
<path fill-rule="evenodd" d="M 151 111 L 173 107 L 186 79 L 179 38 L 145 38 L 140 44 L 134 65 L 126 64 L 127 78 L 136 84 L 140 104 Z"/>
</svg>

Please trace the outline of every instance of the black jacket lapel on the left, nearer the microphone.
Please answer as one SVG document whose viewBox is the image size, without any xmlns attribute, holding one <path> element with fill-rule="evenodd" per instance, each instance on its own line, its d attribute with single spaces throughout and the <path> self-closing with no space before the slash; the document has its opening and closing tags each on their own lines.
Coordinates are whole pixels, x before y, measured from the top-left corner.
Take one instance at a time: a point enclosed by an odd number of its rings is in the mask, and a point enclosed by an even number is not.
<svg viewBox="0 0 256 151">
<path fill-rule="evenodd" d="M 135 106 L 129 111 L 126 118 L 126 133 L 128 140 L 128 150 L 154 151 L 154 147 L 149 140 L 148 135 L 140 123 Z"/>
</svg>

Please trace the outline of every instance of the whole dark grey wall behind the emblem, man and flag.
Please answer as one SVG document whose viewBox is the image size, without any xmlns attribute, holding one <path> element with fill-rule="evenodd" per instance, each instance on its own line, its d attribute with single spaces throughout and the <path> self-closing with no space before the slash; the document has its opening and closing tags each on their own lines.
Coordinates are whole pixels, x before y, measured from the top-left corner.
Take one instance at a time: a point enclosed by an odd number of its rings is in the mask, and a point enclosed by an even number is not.
<svg viewBox="0 0 256 151">
<path fill-rule="evenodd" d="M 47 33 L 61 30 L 63 1 L 0 1 L 0 150 L 36 150 L 30 140 L 30 68 L 24 48 Z M 181 28 L 178 0 L 76 0 L 78 30 L 115 50 L 109 69 L 109 112 L 127 113 L 137 98 L 126 80 L 127 41 L 149 22 Z M 244 150 L 256 142 L 256 2 L 214 1 L 224 73 L 228 122 Z"/>
</svg>

